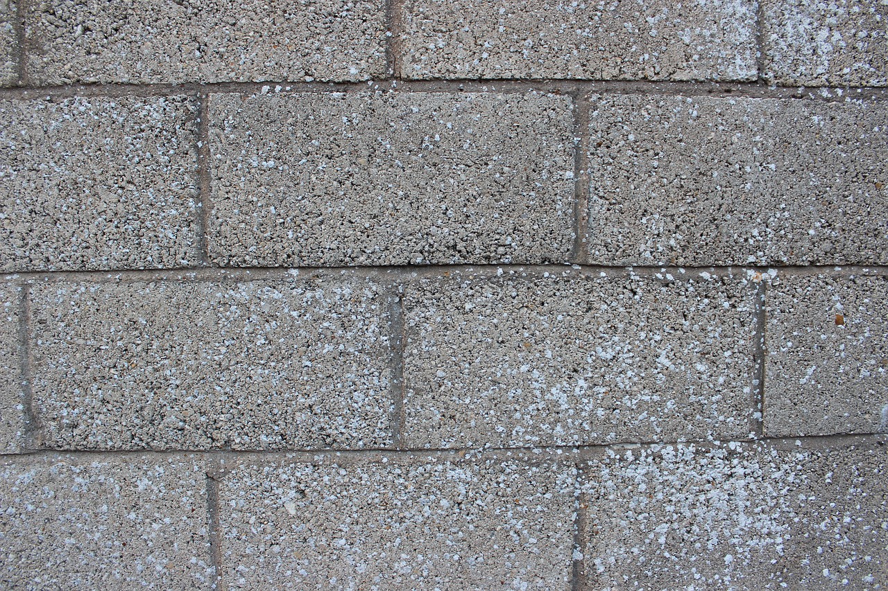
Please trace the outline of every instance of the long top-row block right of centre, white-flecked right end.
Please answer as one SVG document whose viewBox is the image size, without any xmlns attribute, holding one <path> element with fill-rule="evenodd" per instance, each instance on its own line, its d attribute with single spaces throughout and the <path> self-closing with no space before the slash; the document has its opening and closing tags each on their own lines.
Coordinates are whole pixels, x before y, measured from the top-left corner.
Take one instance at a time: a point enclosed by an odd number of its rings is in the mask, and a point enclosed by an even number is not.
<svg viewBox="0 0 888 591">
<path fill-rule="evenodd" d="M 408 0 L 405 78 L 755 80 L 756 3 Z"/>
</svg>

